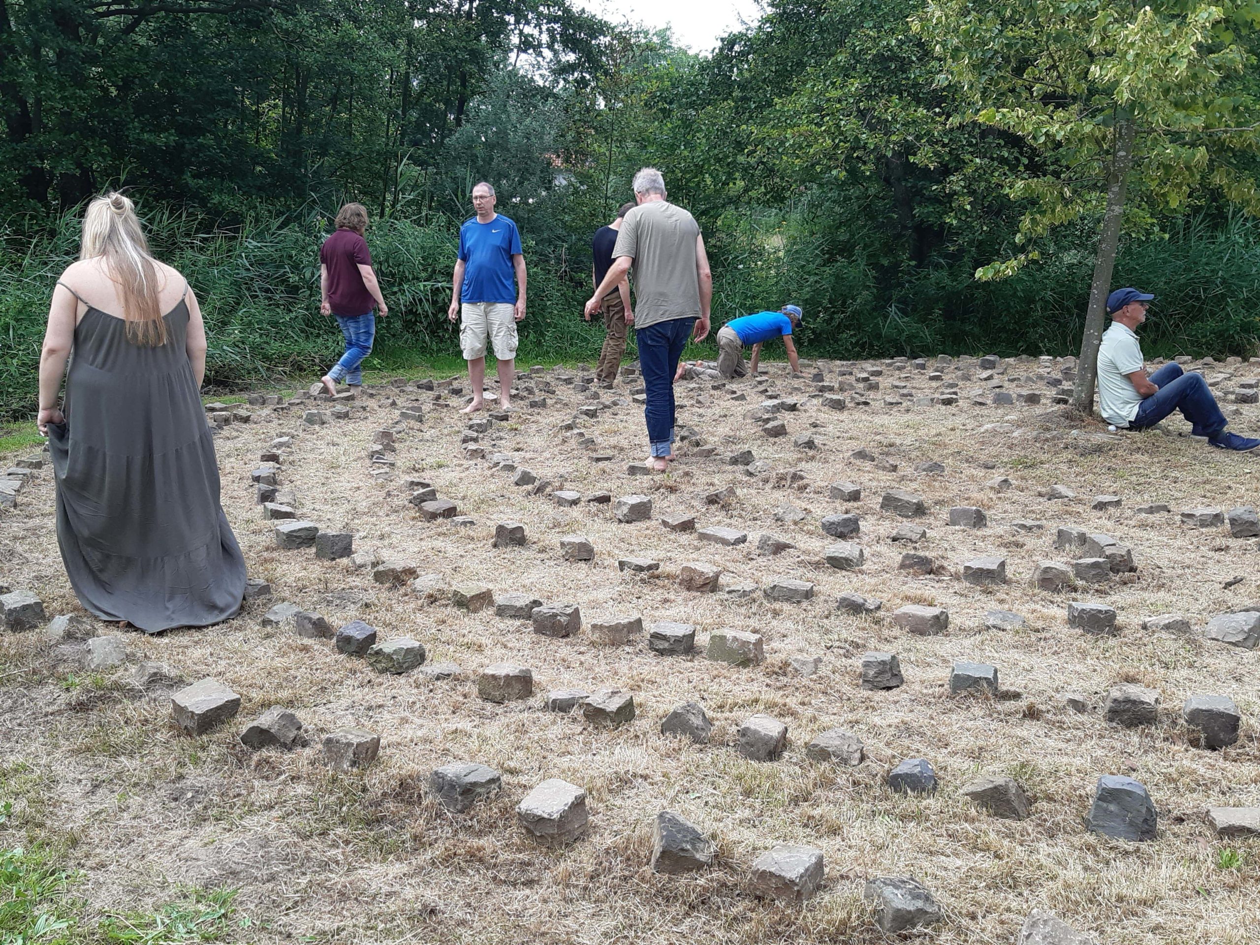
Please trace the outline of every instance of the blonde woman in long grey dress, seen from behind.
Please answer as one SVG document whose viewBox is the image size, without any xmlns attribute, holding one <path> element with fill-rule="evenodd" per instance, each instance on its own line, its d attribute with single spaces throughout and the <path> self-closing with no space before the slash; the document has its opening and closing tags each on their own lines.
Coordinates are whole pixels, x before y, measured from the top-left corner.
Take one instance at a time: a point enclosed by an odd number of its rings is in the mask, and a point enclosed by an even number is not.
<svg viewBox="0 0 1260 945">
<path fill-rule="evenodd" d="M 131 200 L 92 200 L 79 260 L 53 291 L 38 423 L 66 573 L 102 620 L 158 633 L 241 609 L 244 558 L 219 505 L 204 375 L 205 326 L 188 282 L 149 253 Z"/>
</svg>

